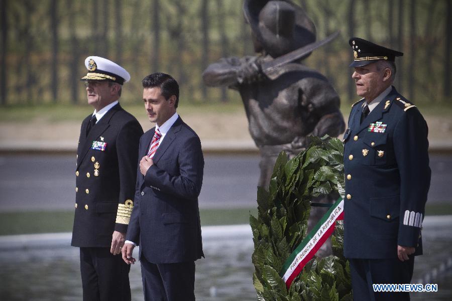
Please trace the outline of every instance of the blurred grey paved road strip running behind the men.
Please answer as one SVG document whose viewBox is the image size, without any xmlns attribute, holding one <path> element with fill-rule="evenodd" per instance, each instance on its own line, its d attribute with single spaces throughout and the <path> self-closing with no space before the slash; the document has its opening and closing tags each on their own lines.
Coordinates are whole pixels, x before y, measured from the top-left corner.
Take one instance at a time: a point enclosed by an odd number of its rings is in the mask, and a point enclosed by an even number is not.
<svg viewBox="0 0 452 301">
<path fill-rule="evenodd" d="M 452 201 L 452 156 L 431 157 L 429 203 Z M 0 211 L 72 210 L 75 156 L 0 157 Z M 259 157 L 205 156 L 201 208 L 256 207 Z"/>
</svg>

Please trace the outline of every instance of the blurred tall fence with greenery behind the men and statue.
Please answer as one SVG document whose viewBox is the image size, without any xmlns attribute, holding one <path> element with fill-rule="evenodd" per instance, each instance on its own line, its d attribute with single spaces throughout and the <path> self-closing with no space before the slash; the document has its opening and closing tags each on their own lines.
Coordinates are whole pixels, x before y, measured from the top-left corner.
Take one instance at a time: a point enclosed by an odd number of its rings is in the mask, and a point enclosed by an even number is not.
<svg viewBox="0 0 452 301">
<path fill-rule="evenodd" d="M 348 67 L 351 36 L 404 52 L 396 86 L 417 104 L 450 96 L 449 0 L 294 0 L 317 27 L 317 39 L 340 38 L 304 63 L 325 74 L 345 103 L 358 97 Z M 0 0 L 0 104 L 84 103 L 79 78 L 88 55 L 122 64 L 132 80 L 123 102 L 141 99 L 141 79 L 161 71 L 191 103 L 240 101 L 236 91 L 206 88 L 205 67 L 224 56 L 253 55 L 237 0 Z M 52 13 L 53 12 L 53 13 Z M 204 30 L 207 29 L 207 30 Z M 224 90 L 223 90 L 224 91 Z"/>
</svg>

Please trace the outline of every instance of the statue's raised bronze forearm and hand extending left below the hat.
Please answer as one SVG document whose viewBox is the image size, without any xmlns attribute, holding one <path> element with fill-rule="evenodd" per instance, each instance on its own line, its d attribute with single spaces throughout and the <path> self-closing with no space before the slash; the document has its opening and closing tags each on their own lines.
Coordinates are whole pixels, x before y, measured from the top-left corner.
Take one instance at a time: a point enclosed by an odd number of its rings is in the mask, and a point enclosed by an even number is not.
<svg viewBox="0 0 452 301">
<path fill-rule="evenodd" d="M 235 86 L 257 81 L 260 74 L 258 57 L 230 57 L 210 64 L 202 79 L 207 86 Z"/>
</svg>

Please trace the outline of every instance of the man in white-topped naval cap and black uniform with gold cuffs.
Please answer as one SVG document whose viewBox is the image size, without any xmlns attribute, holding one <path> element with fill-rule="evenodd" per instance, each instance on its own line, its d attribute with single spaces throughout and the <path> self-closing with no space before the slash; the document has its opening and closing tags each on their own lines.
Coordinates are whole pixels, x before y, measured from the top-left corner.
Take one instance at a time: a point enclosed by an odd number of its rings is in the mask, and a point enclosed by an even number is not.
<svg viewBox="0 0 452 301">
<path fill-rule="evenodd" d="M 129 73 L 114 62 L 85 60 L 88 103 L 75 171 L 72 246 L 80 247 L 83 300 L 130 301 L 129 270 L 118 254 L 134 204 L 135 164 L 143 129 L 118 100 Z"/>
</svg>

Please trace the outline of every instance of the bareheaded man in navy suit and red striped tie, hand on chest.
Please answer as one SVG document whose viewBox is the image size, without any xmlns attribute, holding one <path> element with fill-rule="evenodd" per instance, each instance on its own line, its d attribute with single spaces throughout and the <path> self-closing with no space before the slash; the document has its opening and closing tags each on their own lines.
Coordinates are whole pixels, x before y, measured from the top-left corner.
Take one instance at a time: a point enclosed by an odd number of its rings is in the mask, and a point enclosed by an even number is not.
<svg viewBox="0 0 452 301">
<path fill-rule="evenodd" d="M 196 259 L 204 256 L 198 195 L 204 158 L 196 133 L 176 113 L 177 82 L 164 73 L 145 77 L 143 101 L 155 128 L 140 139 L 140 153 L 126 243 L 126 263 L 140 244 L 146 300 L 194 300 Z"/>
</svg>

